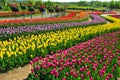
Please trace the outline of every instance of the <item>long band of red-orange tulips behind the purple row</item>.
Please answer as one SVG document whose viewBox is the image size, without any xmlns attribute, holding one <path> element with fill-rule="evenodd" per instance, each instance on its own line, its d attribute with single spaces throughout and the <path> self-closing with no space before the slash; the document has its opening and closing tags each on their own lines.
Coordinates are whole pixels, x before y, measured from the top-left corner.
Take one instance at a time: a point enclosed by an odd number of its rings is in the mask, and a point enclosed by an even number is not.
<svg viewBox="0 0 120 80">
<path fill-rule="evenodd" d="M 82 18 L 77 18 L 76 15 L 80 14 Z M 67 16 L 58 17 L 58 18 L 34 18 L 34 19 L 25 19 L 25 20 L 0 20 L 0 27 L 9 27 L 9 26 L 26 26 L 26 25 L 37 25 L 43 23 L 58 23 L 58 22 L 71 22 L 71 21 L 81 21 L 83 18 L 88 18 L 88 13 L 77 13 L 71 12 Z"/>
</svg>

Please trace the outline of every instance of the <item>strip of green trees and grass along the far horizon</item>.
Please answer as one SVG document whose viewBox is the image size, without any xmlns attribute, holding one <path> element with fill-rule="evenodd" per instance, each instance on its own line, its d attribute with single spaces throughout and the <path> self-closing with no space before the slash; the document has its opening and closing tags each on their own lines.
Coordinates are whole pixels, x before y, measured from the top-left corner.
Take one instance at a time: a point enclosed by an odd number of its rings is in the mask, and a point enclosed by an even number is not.
<svg viewBox="0 0 120 80">
<path fill-rule="evenodd" d="M 21 4 L 32 4 L 32 6 L 40 6 L 45 5 L 47 7 L 53 7 L 53 6 L 67 6 L 68 8 L 83 8 L 83 9 L 91 9 L 94 8 L 95 10 L 104 10 L 104 9 L 120 9 L 120 0 L 111 0 L 110 2 L 101 2 L 98 0 L 93 0 L 91 2 L 82 1 L 79 2 L 51 2 L 48 0 L 47 2 L 42 2 L 42 0 L 26 0 L 26 1 L 18 1 L 18 0 L 0 0 L 0 5 L 2 5 L 3 10 L 10 10 L 9 4 L 11 3 L 17 3 L 19 6 Z"/>
</svg>

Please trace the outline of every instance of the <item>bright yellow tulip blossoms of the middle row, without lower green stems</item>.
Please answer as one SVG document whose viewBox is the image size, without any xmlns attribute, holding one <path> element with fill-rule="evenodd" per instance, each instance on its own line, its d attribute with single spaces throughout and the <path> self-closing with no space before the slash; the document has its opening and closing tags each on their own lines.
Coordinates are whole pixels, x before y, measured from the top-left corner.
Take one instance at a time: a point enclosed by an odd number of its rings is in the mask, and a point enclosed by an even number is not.
<svg viewBox="0 0 120 80">
<path fill-rule="evenodd" d="M 63 43 L 66 46 L 66 43 L 69 40 L 81 40 L 84 36 L 90 34 L 101 34 L 104 31 L 110 31 L 111 29 L 120 29 L 120 20 L 112 18 L 110 16 L 106 17 L 111 19 L 114 23 L 89 26 L 84 28 L 70 28 L 65 30 L 58 30 L 56 32 L 46 32 L 38 35 L 28 35 L 22 37 L 16 37 L 14 40 L 9 39 L 8 41 L 0 41 L 0 58 L 3 58 L 4 54 L 7 54 L 8 57 L 11 55 L 17 56 L 17 54 L 27 54 L 28 49 L 33 51 L 41 49 L 44 53 L 44 48 L 48 46 L 57 46 L 58 44 Z M 32 55 L 32 54 L 31 54 Z"/>
</svg>

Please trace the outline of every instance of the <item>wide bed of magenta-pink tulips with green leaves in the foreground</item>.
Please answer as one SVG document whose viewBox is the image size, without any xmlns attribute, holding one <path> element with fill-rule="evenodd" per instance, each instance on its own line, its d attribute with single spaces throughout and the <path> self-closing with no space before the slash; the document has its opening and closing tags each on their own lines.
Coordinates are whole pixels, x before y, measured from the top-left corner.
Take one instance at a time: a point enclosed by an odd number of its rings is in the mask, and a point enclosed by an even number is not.
<svg viewBox="0 0 120 80">
<path fill-rule="evenodd" d="M 28 80 L 117 80 L 120 76 L 120 31 L 30 61 Z"/>
</svg>

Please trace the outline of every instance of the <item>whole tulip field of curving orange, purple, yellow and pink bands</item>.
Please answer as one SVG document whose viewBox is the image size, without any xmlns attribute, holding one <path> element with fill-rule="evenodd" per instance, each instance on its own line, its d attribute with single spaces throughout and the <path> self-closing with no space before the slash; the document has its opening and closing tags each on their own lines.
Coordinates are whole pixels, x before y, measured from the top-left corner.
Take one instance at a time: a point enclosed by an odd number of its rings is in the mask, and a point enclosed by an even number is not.
<svg viewBox="0 0 120 80">
<path fill-rule="evenodd" d="M 0 73 L 30 64 L 28 80 L 117 80 L 120 19 L 102 14 L 0 20 Z"/>
</svg>

